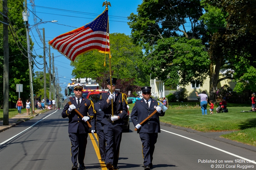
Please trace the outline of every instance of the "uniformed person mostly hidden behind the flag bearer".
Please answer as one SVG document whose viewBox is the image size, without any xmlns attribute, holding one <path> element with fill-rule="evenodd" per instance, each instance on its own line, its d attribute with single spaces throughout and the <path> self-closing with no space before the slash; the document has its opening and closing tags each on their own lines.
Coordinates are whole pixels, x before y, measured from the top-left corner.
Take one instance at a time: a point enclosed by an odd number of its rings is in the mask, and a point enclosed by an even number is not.
<svg viewBox="0 0 256 170">
<path fill-rule="evenodd" d="M 100 150 L 101 161 L 105 161 L 105 151 L 106 151 L 106 140 L 103 132 L 103 126 L 100 123 L 106 116 L 100 108 L 100 102 L 94 103 L 94 110 L 96 111 L 96 118 L 91 121 L 91 131 L 95 132 L 95 125 L 97 130 L 97 136 L 99 139 L 98 147 Z"/>
</svg>

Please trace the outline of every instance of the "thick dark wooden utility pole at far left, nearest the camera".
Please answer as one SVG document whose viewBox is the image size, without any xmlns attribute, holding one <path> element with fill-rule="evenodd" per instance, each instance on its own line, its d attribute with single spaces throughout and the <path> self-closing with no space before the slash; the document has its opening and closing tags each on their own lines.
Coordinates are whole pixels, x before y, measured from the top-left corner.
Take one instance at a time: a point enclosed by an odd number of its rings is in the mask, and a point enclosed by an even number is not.
<svg viewBox="0 0 256 170">
<path fill-rule="evenodd" d="M 9 125 L 9 45 L 8 45 L 8 8 L 7 0 L 3 1 L 3 34 L 4 34 L 4 106 L 3 106 L 3 125 Z"/>
</svg>

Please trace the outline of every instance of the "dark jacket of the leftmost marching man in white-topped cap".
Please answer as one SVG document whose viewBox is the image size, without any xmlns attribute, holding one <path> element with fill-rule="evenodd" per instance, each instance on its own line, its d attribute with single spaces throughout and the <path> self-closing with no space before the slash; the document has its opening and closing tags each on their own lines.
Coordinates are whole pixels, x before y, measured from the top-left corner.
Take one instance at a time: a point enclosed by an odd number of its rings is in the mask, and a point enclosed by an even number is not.
<svg viewBox="0 0 256 170">
<path fill-rule="evenodd" d="M 80 101 L 79 108 L 76 103 L 76 97 L 70 97 L 69 98 L 70 102 L 76 106 L 76 109 L 83 115 L 83 116 L 88 116 L 90 120 L 94 118 L 95 116 L 95 110 L 93 109 L 93 103 L 90 99 L 86 99 L 82 97 L 82 100 Z M 76 133 L 77 129 L 79 127 L 79 133 L 88 133 L 89 132 L 89 127 L 86 122 L 82 120 L 83 117 L 80 117 L 75 110 L 72 110 L 69 112 L 68 110 L 69 104 L 67 103 L 61 113 L 61 116 L 63 118 L 68 117 L 68 133 Z"/>
</svg>

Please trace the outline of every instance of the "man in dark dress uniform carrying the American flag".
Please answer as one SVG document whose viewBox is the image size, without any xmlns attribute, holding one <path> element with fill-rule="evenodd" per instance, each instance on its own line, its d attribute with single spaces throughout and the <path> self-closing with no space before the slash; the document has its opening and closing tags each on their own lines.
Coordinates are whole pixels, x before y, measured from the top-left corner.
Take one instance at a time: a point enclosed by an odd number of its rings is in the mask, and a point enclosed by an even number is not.
<svg viewBox="0 0 256 170">
<path fill-rule="evenodd" d="M 116 91 L 116 80 L 116 78 L 112 78 L 111 87 L 110 79 L 107 79 L 109 91 L 108 93 L 102 93 L 100 96 L 100 108 L 106 116 L 101 124 L 106 139 L 105 162 L 109 170 L 119 169 L 117 163 L 122 139 L 123 118 L 127 114 L 127 97 L 125 94 Z M 110 92 L 111 88 L 113 94 Z M 111 99 L 113 99 L 114 116 L 112 116 Z"/>
</svg>

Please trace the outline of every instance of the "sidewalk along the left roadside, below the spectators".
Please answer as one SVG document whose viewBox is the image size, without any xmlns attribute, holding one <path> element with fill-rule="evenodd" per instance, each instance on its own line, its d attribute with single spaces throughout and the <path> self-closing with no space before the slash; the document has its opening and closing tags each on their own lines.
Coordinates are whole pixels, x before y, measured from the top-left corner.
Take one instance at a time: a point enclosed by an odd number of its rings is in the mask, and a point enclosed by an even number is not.
<svg viewBox="0 0 256 170">
<path fill-rule="evenodd" d="M 3 125 L 3 120 L 0 120 L 0 132 L 5 131 L 13 126 L 16 126 L 22 122 L 25 122 L 25 121 L 37 116 L 40 113 L 40 111 L 42 111 L 42 110 L 35 110 L 34 115 L 30 114 L 27 116 L 27 113 L 22 113 L 21 115 L 16 115 L 12 118 L 9 118 L 9 125 Z"/>
</svg>

